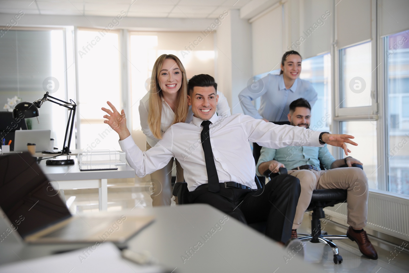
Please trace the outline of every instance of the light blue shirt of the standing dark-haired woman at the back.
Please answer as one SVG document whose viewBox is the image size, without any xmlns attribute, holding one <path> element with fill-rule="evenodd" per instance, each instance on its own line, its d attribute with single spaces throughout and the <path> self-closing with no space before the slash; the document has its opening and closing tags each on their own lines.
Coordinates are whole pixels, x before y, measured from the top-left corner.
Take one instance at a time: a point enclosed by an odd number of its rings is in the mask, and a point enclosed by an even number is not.
<svg viewBox="0 0 409 273">
<path fill-rule="evenodd" d="M 253 87 L 258 89 L 253 90 Z M 260 90 L 263 88 L 263 90 Z M 254 108 L 252 101 L 261 96 L 260 108 Z M 268 74 L 258 80 L 258 86 L 251 85 L 244 88 L 238 95 L 241 108 L 245 115 L 256 119 L 265 118 L 272 122 L 287 121 L 290 113 L 290 103 L 296 99 L 306 99 L 311 108 L 317 101 L 317 92 L 311 83 L 297 78 L 289 89 L 285 88 L 283 74 Z"/>
</svg>

